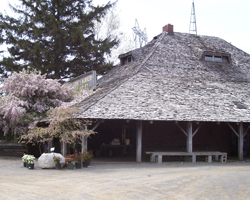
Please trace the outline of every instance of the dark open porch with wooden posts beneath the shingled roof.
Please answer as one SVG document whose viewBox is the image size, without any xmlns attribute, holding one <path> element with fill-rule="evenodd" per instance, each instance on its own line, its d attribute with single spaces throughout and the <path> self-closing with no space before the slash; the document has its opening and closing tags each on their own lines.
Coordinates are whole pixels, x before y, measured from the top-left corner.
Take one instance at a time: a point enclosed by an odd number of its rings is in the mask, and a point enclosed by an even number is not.
<svg viewBox="0 0 250 200">
<path fill-rule="evenodd" d="M 233 122 L 109 119 L 99 123 L 95 129 L 97 134 L 88 138 L 85 144 L 88 143 L 88 149 L 93 150 L 96 157 L 130 157 L 136 162 L 149 161 L 147 152 L 152 151 L 222 152 L 243 160 L 250 154 L 249 126 L 249 123 Z M 112 145 L 115 138 L 120 143 Z M 129 144 L 125 143 L 126 139 L 129 139 Z"/>
</svg>

